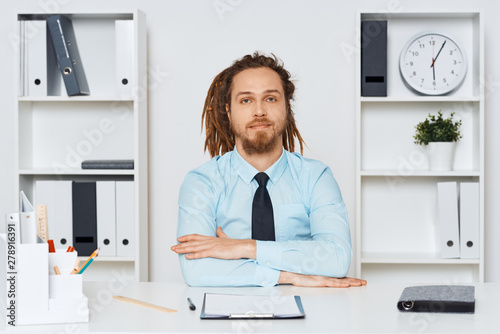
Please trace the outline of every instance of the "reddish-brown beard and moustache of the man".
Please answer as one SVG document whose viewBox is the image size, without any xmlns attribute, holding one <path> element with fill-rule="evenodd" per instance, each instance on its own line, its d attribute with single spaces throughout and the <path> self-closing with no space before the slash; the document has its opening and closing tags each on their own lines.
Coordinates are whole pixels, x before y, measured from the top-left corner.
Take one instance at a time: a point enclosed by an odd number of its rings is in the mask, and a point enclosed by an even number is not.
<svg viewBox="0 0 500 334">
<path fill-rule="evenodd" d="M 233 131 L 235 138 L 238 138 L 241 141 L 241 146 L 248 155 L 272 152 L 279 140 L 282 138 L 287 127 L 286 121 L 280 120 L 277 123 L 272 123 L 267 118 L 264 118 L 247 124 L 245 129 L 248 129 L 258 123 L 271 124 L 271 126 L 275 125 L 275 128 L 273 131 L 257 131 L 254 138 L 250 138 L 244 130 L 236 128 L 233 124 L 231 124 L 231 130 Z"/>
</svg>

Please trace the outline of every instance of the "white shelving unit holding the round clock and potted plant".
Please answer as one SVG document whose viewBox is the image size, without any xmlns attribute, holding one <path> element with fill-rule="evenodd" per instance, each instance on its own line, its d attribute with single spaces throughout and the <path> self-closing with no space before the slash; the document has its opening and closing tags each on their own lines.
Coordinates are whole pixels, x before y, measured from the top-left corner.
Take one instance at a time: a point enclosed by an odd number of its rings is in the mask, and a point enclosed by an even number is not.
<svg viewBox="0 0 500 334">
<path fill-rule="evenodd" d="M 361 96 L 357 58 L 357 275 L 369 281 L 472 283 L 484 281 L 484 31 L 481 11 L 357 13 L 387 21 L 387 97 Z M 415 34 L 440 31 L 458 39 L 469 69 L 459 89 L 446 96 L 419 96 L 403 83 L 399 55 Z M 361 44 L 359 44 L 361 45 Z M 429 113 L 455 112 L 462 120 L 454 170 L 428 170 L 414 144 L 415 125 Z M 443 259 L 438 246 L 437 182 L 479 182 L 480 256 Z"/>
</svg>

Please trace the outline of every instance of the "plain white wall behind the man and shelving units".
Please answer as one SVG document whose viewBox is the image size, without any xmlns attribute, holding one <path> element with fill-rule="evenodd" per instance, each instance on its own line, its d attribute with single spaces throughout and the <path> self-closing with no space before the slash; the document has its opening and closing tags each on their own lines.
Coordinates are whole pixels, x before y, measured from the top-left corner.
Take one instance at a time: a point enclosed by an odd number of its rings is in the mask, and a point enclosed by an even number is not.
<svg viewBox="0 0 500 334">
<path fill-rule="evenodd" d="M 15 94 L 13 49 L 6 37 L 15 13 L 140 8 L 148 21 L 150 279 L 182 280 L 175 243 L 177 195 L 184 175 L 208 160 L 201 111 L 213 77 L 254 50 L 273 52 L 297 80 L 295 112 L 308 148 L 304 155 L 331 166 L 355 225 L 356 10 L 484 9 L 486 68 L 486 280 L 500 281 L 500 41 L 494 1 L 454 0 L 23 0 L 0 11 L 0 213 L 14 210 Z M 3 224 L 0 224 L 3 227 Z M 354 265 L 352 266 L 354 268 Z"/>
</svg>

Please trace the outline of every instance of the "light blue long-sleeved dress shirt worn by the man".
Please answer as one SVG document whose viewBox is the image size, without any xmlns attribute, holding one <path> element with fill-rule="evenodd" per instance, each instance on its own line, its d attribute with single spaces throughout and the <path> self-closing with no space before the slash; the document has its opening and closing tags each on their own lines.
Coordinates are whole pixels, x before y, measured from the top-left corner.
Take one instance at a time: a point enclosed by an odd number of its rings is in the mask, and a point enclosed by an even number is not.
<svg viewBox="0 0 500 334">
<path fill-rule="evenodd" d="M 179 195 L 177 236 L 251 239 L 252 201 L 259 171 L 235 149 L 189 172 Z M 352 258 L 347 211 L 330 168 L 283 150 L 265 171 L 274 211 L 276 241 L 257 241 L 256 259 L 187 260 L 179 255 L 191 286 L 273 286 L 280 271 L 344 277 Z"/>
</svg>

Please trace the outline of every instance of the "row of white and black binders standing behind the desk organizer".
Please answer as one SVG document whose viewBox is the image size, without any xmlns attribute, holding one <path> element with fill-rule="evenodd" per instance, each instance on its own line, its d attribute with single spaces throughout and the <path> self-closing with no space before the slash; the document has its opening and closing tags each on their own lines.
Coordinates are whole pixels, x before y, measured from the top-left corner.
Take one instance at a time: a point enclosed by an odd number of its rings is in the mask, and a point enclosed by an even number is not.
<svg viewBox="0 0 500 334">
<path fill-rule="evenodd" d="M 37 204 L 47 205 L 56 247 L 72 243 L 89 256 L 135 256 L 133 181 L 36 181 Z"/>
</svg>

